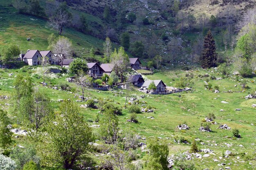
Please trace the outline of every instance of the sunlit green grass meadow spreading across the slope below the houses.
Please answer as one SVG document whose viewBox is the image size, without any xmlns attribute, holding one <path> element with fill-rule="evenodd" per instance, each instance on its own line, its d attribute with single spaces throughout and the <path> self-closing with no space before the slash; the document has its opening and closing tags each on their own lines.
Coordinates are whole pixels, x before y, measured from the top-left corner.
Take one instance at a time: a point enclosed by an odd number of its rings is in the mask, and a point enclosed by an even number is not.
<svg viewBox="0 0 256 170">
<path fill-rule="evenodd" d="M 8 70 L 4 69 L 0 71 L 0 94 L 10 96 L 13 88 L 12 82 L 15 75 L 18 73 L 22 73 L 23 75 L 31 75 L 34 70 L 32 67 L 26 66 L 26 72 L 22 72 L 21 69 L 13 69 Z M 12 77 L 9 77 L 9 73 L 13 73 Z M 168 86 L 171 86 L 179 79 L 181 76 L 185 76 L 186 73 L 193 73 L 194 78 L 192 79 L 195 82 L 193 86 L 193 91 L 188 93 L 177 93 L 171 95 L 146 95 L 145 98 L 140 98 L 140 95 L 145 95 L 144 93 L 140 93 L 138 91 L 133 91 L 132 96 L 137 97 L 140 101 L 145 101 L 148 105 L 153 106 L 154 113 L 141 113 L 137 114 L 139 124 L 128 123 L 126 119 L 129 117 L 129 113 L 126 109 L 123 110 L 123 115 L 119 116 L 119 126 L 122 130 L 126 132 L 133 132 L 142 137 L 146 137 L 147 139 L 150 137 L 168 137 L 167 142 L 169 143 L 170 155 L 175 154 L 177 152 L 184 152 L 189 150 L 190 145 L 188 144 L 176 144 L 173 142 L 174 136 L 183 136 L 188 141 L 192 141 L 193 138 L 199 138 L 202 142 L 211 145 L 201 145 L 198 143 L 198 147 L 200 149 L 210 148 L 215 151 L 216 156 L 211 155 L 209 158 L 205 158 L 202 162 L 207 165 L 205 168 L 214 168 L 217 166 L 218 162 L 215 163 L 212 160 L 214 158 L 219 160 L 219 156 L 222 156 L 222 151 L 231 150 L 235 154 L 242 154 L 243 152 L 248 152 L 248 150 L 255 149 L 255 146 L 252 146 L 252 143 L 255 143 L 255 126 L 251 126 L 251 124 L 256 125 L 256 108 L 252 108 L 251 105 L 256 103 L 255 99 L 245 100 L 245 97 L 250 90 L 245 93 L 222 93 L 222 91 L 240 91 L 240 85 L 235 87 L 235 84 L 239 82 L 234 82 L 234 77 L 229 77 L 222 80 L 210 80 L 213 86 L 218 85 L 220 87 L 220 93 L 213 93 L 212 91 L 204 89 L 204 81 L 206 78 L 200 78 L 198 75 L 203 75 L 205 73 L 209 73 L 210 75 L 215 75 L 218 77 L 218 73 L 211 73 L 211 70 L 206 71 L 202 69 L 195 69 L 190 71 L 182 71 L 182 70 L 162 70 L 161 72 L 157 72 L 154 75 L 147 75 L 148 79 L 162 79 Z M 47 82 L 50 85 L 58 85 L 60 83 L 67 83 L 65 78 L 61 77 L 60 79 L 52 79 Z M 32 77 L 33 82 L 36 84 L 36 87 L 39 87 L 41 91 L 44 91 L 48 94 L 48 96 L 53 100 L 57 101 L 58 99 L 71 99 L 75 101 L 78 99 L 74 98 L 75 94 L 67 91 L 56 91 L 52 88 L 46 88 L 42 86 L 38 86 L 42 81 L 36 77 Z M 248 79 L 253 80 L 254 78 Z M 170 83 L 172 82 L 172 84 Z M 70 86 L 74 86 L 74 84 L 69 83 Z M 256 89 L 255 83 L 248 83 L 249 88 Z M 81 94 L 79 88 L 77 88 L 77 93 Z M 117 93 L 113 93 L 112 91 L 98 91 L 88 90 L 85 94 L 86 97 L 92 97 L 93 99 L 106 98 L 112 99 L 117 106 L 121 107 L 124 105 L 125 96 Z M 218 98 L 218 99 L 214 99 Z M 229 104 L 222 104 L 221 101 L 227 101 Z M 8 100 L 0 100 L 0 104 L 2 104 L 3 109 L 7 109 L 8 107 L 4 104 L 8 103 Z M 53 102 L 54 108 L 58 108 L 58 102 Z M 78 105 L 84 104 L 84 102 L 77 103 Z M 241 111 L 235 111 L 236 108 L 240 108 Z M 220 112 L 220 109 L 224 109 L 224 112 Z M 188 111 L 190 110 L 190 111 Z M 81 113 L 84 115 L 85 119 L 94 120 L 96 114 L 99 110 L 97 109 L 84 109 L 81 108 Z M 220 124 L 227 124 L 231 129 L 238 128 L 242 138 L 232 140 L 232 132 L 231 130 L 220 130 L 218 129 L 218 125 L 212 125 L 211 129 L 213 132 L 200 132 L 198 128 L 202 122 L 202 119 L 208 113 L 214 113 L 216 115 L 216 120 Z M 153 116 L 155 119 L 147 119 L 146 117 Z M 14 121 L 14 120 L 13 120 Z M 180 131 L 176 129 L 178 124 L 186 121 L 190 127 L 190 130 Z M 94 129 L 97 134 L 97 128 Z M 173 136 L 174 135 L 174 136 Z M 19 139 L 16 141 L 17 143 L 23 144 L 23 139 Z M 146 141 L 144 141 L 146 142 Z M 225 143 L 233 144 L 232 147 L 228 148 Z M 24 143 L 25 144 L 25 143 Z M 218 144 L 218 146 L 214 146 L 214 144 Z M 238 145 L 242 144 L 244 148 L 238 147 Z M 224 146 L 224 147 L 221 147 Z M 235 149 L 235 150 L 232 150 Z M 97 153 L 95 153 L 97 154 Z M 241 157 L 241 156 L 240 156 Z M 232 162 L 232 169 L 243 170 L 243 169 L 252 169 L 248 163 L 249 161 L 245 161 L 245 163 L 234 163 L 236 157 L 227 158 L 225 163 Z M 242 160 L 244 160 L 241 157 Z M 101 160 L 101 158 L 95 158 L 95 160 Z M 193 160 L 198 168 L 202 167 L 202 162 L 198 159 Z M 250 161 L 256 163 L 255 161 Z M 238 164 L 239 166 L 234 166 L 234 164 Z"/>
</svg>

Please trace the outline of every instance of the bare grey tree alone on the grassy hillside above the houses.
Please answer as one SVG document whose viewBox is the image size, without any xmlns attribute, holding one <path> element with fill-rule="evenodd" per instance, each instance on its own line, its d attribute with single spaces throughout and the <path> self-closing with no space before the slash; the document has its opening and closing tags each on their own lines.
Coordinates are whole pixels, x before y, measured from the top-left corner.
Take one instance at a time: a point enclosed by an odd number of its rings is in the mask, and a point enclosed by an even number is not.
<svg viewBox="0 0 256 170">
<path fill-rule="evenodd" d="M 59 35 L 64 30 L 65 26 L 70 25 L 70 16 L 66 11 L 62 11 L 61 9 L 58 9 L 56 14 L 49 18 L 48 25 L 52 28 L 57 30 Z"/>
</svg>

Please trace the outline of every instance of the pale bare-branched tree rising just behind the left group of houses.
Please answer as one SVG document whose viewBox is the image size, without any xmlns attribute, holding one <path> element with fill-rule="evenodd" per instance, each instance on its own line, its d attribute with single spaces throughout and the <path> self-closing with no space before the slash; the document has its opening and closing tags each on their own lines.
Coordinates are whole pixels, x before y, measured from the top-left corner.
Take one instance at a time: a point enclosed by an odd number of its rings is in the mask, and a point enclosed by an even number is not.
<svg viewBox="0 0 256 170">
<path fill-rule="evenodd" d="M 63 67 L 63 60 L 72 54 L 72 42 L 66 37 L 59 37 L 53 46 L 53 52 L 56 54 L 56 58 L 61 61 L 61 67 Z"/>
</svg>

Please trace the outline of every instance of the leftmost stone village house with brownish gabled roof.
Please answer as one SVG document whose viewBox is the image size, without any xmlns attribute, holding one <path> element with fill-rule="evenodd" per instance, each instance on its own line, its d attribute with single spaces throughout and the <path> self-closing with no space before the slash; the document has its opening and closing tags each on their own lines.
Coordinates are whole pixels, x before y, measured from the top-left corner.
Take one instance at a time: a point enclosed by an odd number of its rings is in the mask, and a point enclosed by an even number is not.
<svg viewBox="0 0 256 170">
<path fill-rule="evenodd" d="M 21 55 L 21 60 L 29 66 L 36 66 L 40 64 L 40 57 L 42 55 L 38 50 L 27 50 L 25 55 Z"/>
</svg>

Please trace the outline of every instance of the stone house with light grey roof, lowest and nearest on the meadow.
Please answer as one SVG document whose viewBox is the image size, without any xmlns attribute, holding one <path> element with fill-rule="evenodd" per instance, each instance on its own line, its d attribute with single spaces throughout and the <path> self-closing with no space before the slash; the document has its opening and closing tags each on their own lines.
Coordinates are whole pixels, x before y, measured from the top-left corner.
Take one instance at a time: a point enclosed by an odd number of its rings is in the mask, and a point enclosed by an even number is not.
<svg viewBox="0 0 256 170">
<path fill-rule="evenodd" d="M 155 83 L 155 86 L 157 87 L 156 90 L 148 90 L 148 86 L 151 82 Z M 141 86 L 141 89 L 143 91 L 146 90 L 146 93 L 166 93 L 166 85 L 162 80 L 146 80 Z"/>
</svg>

